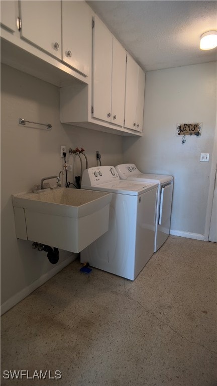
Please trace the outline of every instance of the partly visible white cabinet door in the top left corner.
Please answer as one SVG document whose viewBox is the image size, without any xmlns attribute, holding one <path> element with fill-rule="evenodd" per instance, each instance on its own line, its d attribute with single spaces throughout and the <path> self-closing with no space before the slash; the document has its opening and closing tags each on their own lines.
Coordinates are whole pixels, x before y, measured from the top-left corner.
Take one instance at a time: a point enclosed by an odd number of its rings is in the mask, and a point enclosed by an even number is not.
<svg viewBox="0 0 217 386">
<path fill-rule="evenodd" d="M 11 32 L 16 31 L 16 19 L 18 17 L 16 11 L 15 1 L 1 0 L 1 25 Z"/>
</svg>

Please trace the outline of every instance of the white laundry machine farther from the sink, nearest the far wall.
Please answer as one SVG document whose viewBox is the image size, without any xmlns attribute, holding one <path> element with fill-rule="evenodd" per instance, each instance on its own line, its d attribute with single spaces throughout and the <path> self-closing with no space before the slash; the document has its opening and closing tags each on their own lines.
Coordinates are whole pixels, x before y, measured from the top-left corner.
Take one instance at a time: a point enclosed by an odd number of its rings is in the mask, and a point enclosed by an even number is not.
<svg viewBox="0 0 217 386">
<path fill-rule="evenodd" d="M 161 174 L 144 174 L 139 171 L 134 163 L 117 165 L 116 170 L 121 179 L 130 181 L 143 181 L 158 184 L 155 246 L 156 252 L 166 241 L 170 233 L 170 219 L 173 194 L 173 176 Z"/>
</svg>

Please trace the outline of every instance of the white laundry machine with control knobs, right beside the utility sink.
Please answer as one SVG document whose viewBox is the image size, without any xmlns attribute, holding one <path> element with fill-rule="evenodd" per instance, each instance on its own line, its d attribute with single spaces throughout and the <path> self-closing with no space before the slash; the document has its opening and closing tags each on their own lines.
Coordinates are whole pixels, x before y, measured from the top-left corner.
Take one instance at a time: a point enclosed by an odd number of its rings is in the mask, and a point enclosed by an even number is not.
<svg viewBox="0 0 217 386">
<path fill-rule="evenodd" d="M 108 231 L 81 251 L 81 262 L 134 280 L 154 253 L 157 184 L 123 181 L 114 166 L 98 166 L 84 170 L 81 188 L 113 193 Z"/>
</svg>

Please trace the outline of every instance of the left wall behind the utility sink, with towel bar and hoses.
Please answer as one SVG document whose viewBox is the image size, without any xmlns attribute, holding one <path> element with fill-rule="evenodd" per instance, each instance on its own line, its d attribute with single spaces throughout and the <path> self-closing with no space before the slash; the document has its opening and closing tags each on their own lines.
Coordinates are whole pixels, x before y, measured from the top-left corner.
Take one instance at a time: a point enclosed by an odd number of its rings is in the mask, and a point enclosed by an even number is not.
<svg viewBox="0 0 217 386">
<path fill-rule="evenodd" d="M 41 126 L 21 126 L 19 118 L 51 123 L 52 130 Z M 15 234 L 11 195 L 29 191 L 42 177 L 59 174 L 62 169 L 60 146 L 83 147 L 89 167 L 96 165 L 95 152 L 102 164 L 123 162 L 122 137 L 98 131 L 75 128 L 60 123 L 59 89 L 6 65 L 1 66 L 1 297 L 3 309 L 10 307 L 56 273 L 72 258 L 60 251 L 60 261 L 52 265 L 45 252 L 32 249 L 32 242 L 18 240 Z M 67 161 L 80 174 L 79 158 Z M 85 167 L 85 163 L 84 163 Z M 68 259 L 69 257 L 69 259 Z M 61 265 L 62 264 L 62 265 Z M 55 268 L 54 268 L 55 267 Z M 51 269 L 54 269 L 51 272 Z"/>
</svg>

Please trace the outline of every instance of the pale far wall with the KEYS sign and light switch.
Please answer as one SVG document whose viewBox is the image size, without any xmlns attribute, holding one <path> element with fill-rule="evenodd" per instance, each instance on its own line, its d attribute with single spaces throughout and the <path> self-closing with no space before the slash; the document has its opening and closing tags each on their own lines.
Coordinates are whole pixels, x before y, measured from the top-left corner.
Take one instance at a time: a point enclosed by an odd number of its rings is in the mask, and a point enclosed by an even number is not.
<svg viewBox="0 0 217 386">
<path fill-rule="evenodd" d="M 124 138 L 124 162 L 143 172 L 172 174 L 171 230 L 203 239 L 216 120 L 216 63 L 146 74 L 144 131 Z M 176 137 L 176 124 L 202 122 L 201 137 Z M 209 153 L 209 162 L 200 162 Z"/>
</svg>

